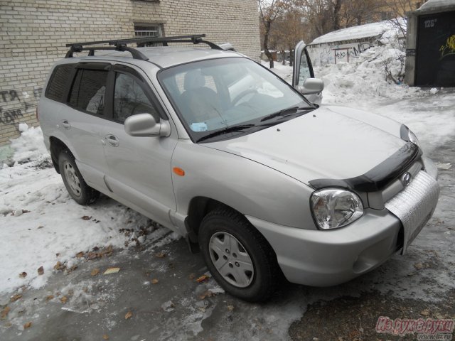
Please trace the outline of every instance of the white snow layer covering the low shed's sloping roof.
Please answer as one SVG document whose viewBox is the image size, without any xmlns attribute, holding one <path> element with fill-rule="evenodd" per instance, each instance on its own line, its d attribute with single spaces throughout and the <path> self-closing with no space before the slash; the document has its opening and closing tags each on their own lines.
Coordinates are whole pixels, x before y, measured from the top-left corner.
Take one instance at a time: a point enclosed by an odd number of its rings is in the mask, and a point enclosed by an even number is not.
<svg viewBox="0 0 455 341">
<path fill-rule="evenodd" d="M 391 26 L 393 24 L 390 21 L 379 21 L 378 23 L 367 23 L 365 25 L 343 28 L 316 38 L 311 45 L 382 36 L 382 34 L 392 28 Z"/>
</svg>

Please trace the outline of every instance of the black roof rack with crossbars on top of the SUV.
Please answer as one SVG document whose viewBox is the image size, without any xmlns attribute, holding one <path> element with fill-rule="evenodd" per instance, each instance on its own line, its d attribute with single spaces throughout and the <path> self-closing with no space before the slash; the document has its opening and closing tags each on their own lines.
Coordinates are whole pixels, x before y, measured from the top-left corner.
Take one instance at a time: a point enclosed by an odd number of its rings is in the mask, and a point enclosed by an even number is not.
<svg viewBox="0 0 455 341">
<path fill-rule="evenodd" d="M 207 44 L 210 48 L 215 50 L 223 50 L 220 46 L 211 43 L 210 41 L 203 40 L 205 34 L 195 34 L 192 36 L 174 36 L 174 37 L 139 37 L 139 38 L 127 38 L 127 39 L 117 39 L 117 40 L 99 40 L 99 41 L 88 41 L 85 43 L 72 43 L 66 44 L 67 48 L 70 48 L 65 55 L 65 58 L 73 57 L 73 53 L 81 51 L 89 51 L 88 55 L 95 55 L 95 50 L 117 50 L 117 51 L 128 51 L 132 54 L 134 59 L 140 60 L 149 60 L 149 58 L 141 53 L 141 51 L 136 48 L 127 46 L 130 43 L 145 44 L 145 43 L 162 43 L 163 46 L 168 46 L 168 43 L 193 43 L 193 44 Z M 109 44 L 114 45 L 110 46 L 93 46 L 93 45 L 102 45 Z M 85 47 L 91 46 L 91 47 Z"/>
</svg>

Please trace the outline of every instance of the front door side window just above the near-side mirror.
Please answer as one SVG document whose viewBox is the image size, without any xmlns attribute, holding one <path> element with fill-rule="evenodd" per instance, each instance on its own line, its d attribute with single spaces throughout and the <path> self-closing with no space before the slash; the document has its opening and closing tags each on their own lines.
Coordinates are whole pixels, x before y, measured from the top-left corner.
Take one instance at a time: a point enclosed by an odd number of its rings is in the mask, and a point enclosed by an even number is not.
<svg viewBox="0 0 455 341">
<path fill-rule="evenodd" d="M 131 75 L 117 73 L 114 92 L 114 119 L 124 121 L 135 114 L 152 114 L 159 121 L 159 114 L 146 96 L 139 80 Z"/>
</svg>

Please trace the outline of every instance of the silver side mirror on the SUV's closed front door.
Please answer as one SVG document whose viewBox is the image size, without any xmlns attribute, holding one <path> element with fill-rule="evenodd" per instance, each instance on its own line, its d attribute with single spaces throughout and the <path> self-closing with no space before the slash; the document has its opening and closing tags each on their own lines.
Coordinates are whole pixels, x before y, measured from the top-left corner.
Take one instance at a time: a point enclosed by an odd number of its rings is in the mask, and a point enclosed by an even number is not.
<svg viewBox="0 0 455 341">
<path fill-rule="evenodd" d="M 131 136 L 169 136 L 171 126 L 166 120 L 156 123 L 151 114 L 137 114 L 125 119 L 124 129 Z"/>
</svg>

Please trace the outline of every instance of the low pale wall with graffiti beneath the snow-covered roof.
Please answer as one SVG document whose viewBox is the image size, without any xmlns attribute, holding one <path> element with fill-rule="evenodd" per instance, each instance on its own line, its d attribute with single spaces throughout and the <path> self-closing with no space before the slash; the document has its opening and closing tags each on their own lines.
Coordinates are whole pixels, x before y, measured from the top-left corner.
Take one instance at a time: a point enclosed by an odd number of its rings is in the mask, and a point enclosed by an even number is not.
<svg viewBox="0 0 455 341">
<path fill-rule="evenodd" d="M 310 45 L 309 54 L 314 66 L 324 66 L 338 62 L 349 62 L 353 58 L 357 58 L 360 53 L 372 47 L 373 43 L 368 41 L 349 44 L 327 43 L 314 46 Z"/>
</svg>

